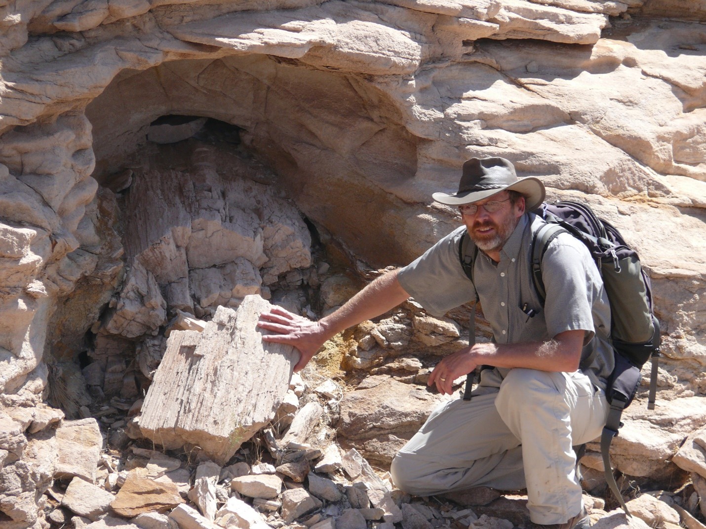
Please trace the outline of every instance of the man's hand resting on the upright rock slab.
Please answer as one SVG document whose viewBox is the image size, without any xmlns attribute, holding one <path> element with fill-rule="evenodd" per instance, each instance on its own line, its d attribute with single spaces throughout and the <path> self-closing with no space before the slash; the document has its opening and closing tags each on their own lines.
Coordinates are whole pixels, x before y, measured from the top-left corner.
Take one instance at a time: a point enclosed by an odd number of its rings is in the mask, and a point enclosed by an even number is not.
<svg viewBox="0 0 706 529">
<path fill-rule="evenodd" d="M 263 312 L 258 327 L 277 333 L 263 335 L 263 341 L 287 343 L 299 349 L 301 355 L 294 371 L 303 369 L 329 338 L 319 322 L 312 322 L 281 307 Z"/>
</svg>

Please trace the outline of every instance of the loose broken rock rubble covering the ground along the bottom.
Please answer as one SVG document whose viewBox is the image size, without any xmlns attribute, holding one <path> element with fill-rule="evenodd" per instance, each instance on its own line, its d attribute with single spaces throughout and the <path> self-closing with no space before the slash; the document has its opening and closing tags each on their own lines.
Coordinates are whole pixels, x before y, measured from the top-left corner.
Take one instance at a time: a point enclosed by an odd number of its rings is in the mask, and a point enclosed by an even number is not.
<svg viewBox="0 0 706 529">
<path fill-rule="evenodd" d="M 405 368 L 390 372 L 403 378 Z M 385 384 L 391 384 L 389 390 Z M 402 411 L 386 418 L 385 395 L 403 395 L 405 388 L 416 387 L 417 394 L 410 398 L 419 402 L 425 392 L 421 386 L 400 382 L 394 375 L 373 375 L 363 379 L 360 389 L 349 391 L 312 365 L 301 376 L 292 375 L 288 387 L 297 401 L 282 401 L 280 408 L 293 415 L 291 422 L 270 423 L 222 464 L 198 446 L 148 448 L 139 432 L 124 446 L 109 439 L 102 453 L 80 443 L 63 443 L 66 453 L 61 461 L 82 464 L 61 463 L 54 470 L 54 486 L 44 496 L 47 521 L 77 529 L 512 529 L 527 524 L 522 491 L 501 494 L 480 487 L 440 497 L 409 497 L 390 482 L 384 466 L 371 465 L 359 450 L 342 448 L 335 441 L 341 422 L 361 432 L 373 425 L 345 418 L 350 413 L 345 410 L 357 408 L 358 402 L 369 400 L 378 406 L 377 425 L 399 425 L 402 416 L 417 424 L 423 417 L 415 419 Z M 381 404 L 375 404 L 372 396 L 356 400 L 356 394 L 376 388 Z M 139 406 L 138 401 L 133 410 Z M 112 408 L 110 413 L 127 418 L 134 411 Z M 82 439 L 97 431 L 93 418 L 64 421 L 56 438 Z M 695 432 L 680 451 L 683 455 L 674 458 L 693 472 L 693 486 L 687 482 L 677 492 L 635 494 L 628 502 L 635 516 L 631 520 L 622 511 L 606 512 L 603 499 L 585 495 L 595 527 L 676 529 L 683 523 L 689 529 L 702 528 L 698 521 L 706 483 L 702 432 Z"/>
</svg>

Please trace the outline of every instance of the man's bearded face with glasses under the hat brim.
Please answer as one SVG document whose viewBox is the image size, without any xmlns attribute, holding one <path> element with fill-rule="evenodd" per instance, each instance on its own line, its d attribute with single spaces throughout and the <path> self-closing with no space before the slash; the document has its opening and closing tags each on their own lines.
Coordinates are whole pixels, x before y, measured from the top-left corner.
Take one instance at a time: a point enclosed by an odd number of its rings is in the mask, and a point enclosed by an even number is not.
<svg viewBox="0 0 706 529">
<path fill-rule="evenodd" d="M 488 212 L 484 207 L 485 204 L 491 202 L 491 206 L 501 202 L 499 209 L 494 212 Z M 474 214 L 462 213 L 461 217 L 466 224 L 468 234 L 477 247 L 484 252 L 498 252 L 503 248 L 505 242 L 512 235 L 517 221 L 525 212 L 525 197 L 520 199 L 513 205 L 510 202 L 510 195 L 507 191 L 501 191 L 488 198 L 473 202 L 479 206 Z M 492 209 L 492 208 L 491 208 Z"/>
</svg>

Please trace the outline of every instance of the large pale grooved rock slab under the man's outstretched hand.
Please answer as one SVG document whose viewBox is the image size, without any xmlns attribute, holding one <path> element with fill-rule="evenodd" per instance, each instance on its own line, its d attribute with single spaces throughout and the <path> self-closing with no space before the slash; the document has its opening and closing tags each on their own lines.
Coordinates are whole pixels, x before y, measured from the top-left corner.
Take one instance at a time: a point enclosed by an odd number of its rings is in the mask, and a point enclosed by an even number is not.
<svg viewBox="0 0 706 529">
<path fill-rule="evenodd" d="M 142 407 L 145 437 L 167 449 L 200 446 L 223 464 L 274 418 L 298 354 L 292 346 L 262 341 L 256 323 L 269 307 L 259 296 L 247 296 L 238 312 L 218 308 L 203 332 L 170 334 Z"/>
</svg>

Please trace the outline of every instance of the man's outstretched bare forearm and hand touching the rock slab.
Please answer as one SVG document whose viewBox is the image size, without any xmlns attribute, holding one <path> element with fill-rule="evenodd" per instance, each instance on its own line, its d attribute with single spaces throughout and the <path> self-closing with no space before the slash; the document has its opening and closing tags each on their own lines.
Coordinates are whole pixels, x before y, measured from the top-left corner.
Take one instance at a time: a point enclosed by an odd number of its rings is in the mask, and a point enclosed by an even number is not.
<svg viewBox="0 0 706 529">
<path fill-rule="evenodd" d="M 395 270 L 375 279 L 340 309 L 318 322 L 275 307 L 261 315 L 258 327 L 278 333 L 263 336 L 264 341 L 288 343 L 299 349 L 301 357 L 294 366 L 294 371 L 299 371 L 331 336 L 384 314 L 407 298 L 409 294 L 402 288 Z"/>
</svg>

